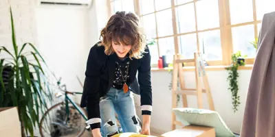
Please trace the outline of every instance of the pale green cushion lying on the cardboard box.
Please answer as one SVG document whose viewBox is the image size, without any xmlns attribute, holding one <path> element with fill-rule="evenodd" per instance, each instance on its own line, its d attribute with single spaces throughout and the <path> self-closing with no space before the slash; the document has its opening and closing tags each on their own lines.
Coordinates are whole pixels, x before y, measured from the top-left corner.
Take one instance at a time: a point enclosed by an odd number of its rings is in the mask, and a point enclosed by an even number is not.
<svg viewBox="0 0 275 137">
<path fill-rule="evenodd" d="M 203 125 L 214 127 L 218 137 L 234 137 L 233 132 L 225 125 L 218 112 L 198 108 L 174 108 L 178 121 L 184 125 Z"/>
</svg>

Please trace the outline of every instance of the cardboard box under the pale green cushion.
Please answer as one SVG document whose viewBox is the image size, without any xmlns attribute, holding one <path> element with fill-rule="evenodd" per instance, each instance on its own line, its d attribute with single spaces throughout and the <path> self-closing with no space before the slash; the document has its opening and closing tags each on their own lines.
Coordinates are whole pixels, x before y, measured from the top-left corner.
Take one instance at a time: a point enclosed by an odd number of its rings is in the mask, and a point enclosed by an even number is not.
<svg viewBox="0 0 275 137">
<path fill-rule="evenodd" d="M 215 137 L 214 127 L 204 127 L 199 125 L 188 125 L 182 129 L 175 129 L 162 134 L 161 137 Z"/>
</svg>

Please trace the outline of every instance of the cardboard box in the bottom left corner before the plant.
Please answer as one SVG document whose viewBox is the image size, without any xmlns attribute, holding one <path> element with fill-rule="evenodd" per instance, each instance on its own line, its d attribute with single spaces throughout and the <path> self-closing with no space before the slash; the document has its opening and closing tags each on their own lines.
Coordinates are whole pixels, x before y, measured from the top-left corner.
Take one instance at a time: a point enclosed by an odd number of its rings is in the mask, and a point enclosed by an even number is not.
<svg viewBox="0 0 275 137">
<path fill-rule="evenodd" d="M 16 107 L 0 108 L 0 134 L 1 136 L 21 136 L 21 125 Z"/>
</svg>

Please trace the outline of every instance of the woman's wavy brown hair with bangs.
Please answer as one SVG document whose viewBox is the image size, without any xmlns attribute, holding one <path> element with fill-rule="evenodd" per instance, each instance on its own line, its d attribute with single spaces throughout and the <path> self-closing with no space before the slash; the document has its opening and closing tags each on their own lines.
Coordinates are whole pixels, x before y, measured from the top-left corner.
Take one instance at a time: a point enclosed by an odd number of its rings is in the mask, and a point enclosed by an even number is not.
<svg viewBox="0 0 275 137">
<path fill-rule="evenodd" d="M 107 25 L 100 32 L 101 45 L 105 53 L 114 53 L 111 41 L 120 42 L 122 45 L 132 45 L 129 58 L 142 58 L 145 49 L 145 40 L 140 34 L 139 18 L 132 12 L 116 12 L 109 18 Z"/>
</svg>

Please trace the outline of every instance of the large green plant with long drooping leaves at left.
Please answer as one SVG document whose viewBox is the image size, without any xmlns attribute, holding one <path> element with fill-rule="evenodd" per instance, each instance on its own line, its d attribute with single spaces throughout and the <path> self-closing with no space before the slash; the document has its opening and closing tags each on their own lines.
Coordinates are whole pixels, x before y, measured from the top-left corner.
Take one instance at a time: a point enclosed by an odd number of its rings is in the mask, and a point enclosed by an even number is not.
<svg viewBox="0 0 275 137">
<path fill-rule="evenodd" d="M 0 55 L 9 55 L 0 60 L 0 107 L 16 106 L 22 136 L 34 136 L 39 116 L 47 110 L 47 102 L 52 101 L 52 92 L 42 67 L 45 61 L 39 51 L 30 42 L 21 47 L 17 45 L 12 8 L 10 21 L 13 50 L 0 47 Z M 26 47 L 31 47 L 31 50 L 25 50 Z"/>
</svg>

